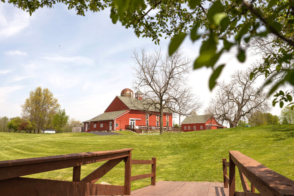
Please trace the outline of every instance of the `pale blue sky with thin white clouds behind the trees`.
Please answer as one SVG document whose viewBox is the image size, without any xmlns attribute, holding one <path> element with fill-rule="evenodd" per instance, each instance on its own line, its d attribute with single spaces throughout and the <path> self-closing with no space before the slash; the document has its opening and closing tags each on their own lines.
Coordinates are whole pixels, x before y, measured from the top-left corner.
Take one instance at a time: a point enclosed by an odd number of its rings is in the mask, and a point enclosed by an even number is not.
<svg viewBox="0 0 294 196">
<path fill-rule="evenodd" d="M 54 93 L 70 117 L 84 121 L 103 113 L 123 88 L 130 88 L 132 50 L 145 47 L 148 52 L 159 48 L 165 52 L 168 41 L 157 46 L 149 38 L 137 38 L 132 29 L 112 24 L 109 14 L 104 10 L 77 16 L 74 10 L 57 4 L 54 9 L 39 9 L 29 16 L 1 3 L 0 116 L 21 115 L 20 105 L 31 90 L 41 86 Z M 195 58 L 199 42 L 185 40 L 183 51 Z M 254 59 L 241 64 L 234 51 L 223 56 L 219 63 L 228 66 L 220 79 L 245 69 Z M 204 102 L 201 111 L 213 96 L 208 89 L 210 74 L 211 70 L 201 68 L 190 76 L 194 92 Z M 280 109 L 275 107 L 272 113 L 279 115 Z"/>
</svg>

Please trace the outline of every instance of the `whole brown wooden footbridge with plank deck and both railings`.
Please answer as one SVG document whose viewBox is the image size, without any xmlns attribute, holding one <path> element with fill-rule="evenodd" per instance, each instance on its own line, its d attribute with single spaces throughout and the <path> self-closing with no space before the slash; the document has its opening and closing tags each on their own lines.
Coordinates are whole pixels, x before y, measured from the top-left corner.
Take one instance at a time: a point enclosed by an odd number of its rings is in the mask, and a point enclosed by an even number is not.
<svg viewBox="0 0 294 196">
<path fill-rule="evenodd" d="M 294 181 L 270 170 L 238 151 L 229 151 L 229 162 L 223 159 L 224 182 L 156 182 L 156 158 L 131 159 L 132 148 L 49 157 L 0 161 L 0 195 L 203 195 L 203 196 L 294 196 Z M 106 161 L 81 179 L 81 165 Z M 123 186 L 95 184 L 121 161 L 125 162 Z M 151 173 L 131 176 L 131 165 L 150 164 Z M 235 166 L 238 167 L 243 192 L 235 191 Z M 72 182 L 21 177 L 30 174 L 73 167 Z M 227 175 L 229 167 L 229 177 Z M 151 185 L 131 192 L 131 181 L 151 178 Z M 247 180 L 251 182 L 249 188 Z M 255 193 L 255 189 L 260 193 Z"/>
</svg>

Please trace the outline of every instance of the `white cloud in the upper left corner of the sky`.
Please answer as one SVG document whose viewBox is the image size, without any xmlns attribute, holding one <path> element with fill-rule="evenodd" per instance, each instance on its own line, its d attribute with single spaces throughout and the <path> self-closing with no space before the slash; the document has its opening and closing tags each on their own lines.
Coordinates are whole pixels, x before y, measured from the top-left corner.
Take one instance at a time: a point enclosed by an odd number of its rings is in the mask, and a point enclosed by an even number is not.
<svg viewBox="0 0 294 196">
<path fill-rule="evenodd" d="M 20 9 L 12 13 L 5 13 L 3 4 L 0 6 L 0 39 L 14 36 L 30 24 L 30 15 Z M 4 15 L 5 14 L 5 15 Z"/>
</svg>

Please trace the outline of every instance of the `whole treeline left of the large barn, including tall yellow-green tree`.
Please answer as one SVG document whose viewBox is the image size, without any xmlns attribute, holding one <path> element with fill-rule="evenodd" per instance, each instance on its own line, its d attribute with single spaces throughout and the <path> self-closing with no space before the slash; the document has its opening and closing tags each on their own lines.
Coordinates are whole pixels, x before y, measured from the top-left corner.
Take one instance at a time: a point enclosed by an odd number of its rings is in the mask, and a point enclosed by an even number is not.
<svg viewBox="0 0 294 196">
<path fill-rule="evenodd" d="M 21 108 L 21 117 L 0 117 L 0 132 L 40 133 L 41 130 L 55 129 L 57 133 L 62 133 L 83 125 L 75 118 L 69 119 L 48 88 L 37 87 L 31 91 Z"/>
</svg>

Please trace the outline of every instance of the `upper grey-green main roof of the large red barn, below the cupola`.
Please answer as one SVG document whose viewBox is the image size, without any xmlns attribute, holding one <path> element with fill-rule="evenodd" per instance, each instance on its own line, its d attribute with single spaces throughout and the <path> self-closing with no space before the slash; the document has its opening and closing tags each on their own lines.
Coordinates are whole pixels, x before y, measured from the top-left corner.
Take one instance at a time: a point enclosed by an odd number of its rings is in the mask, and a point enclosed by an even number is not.
<svg viewBox="0 0 294 196">
<path fill-rule="evenodd" d="M 122 96 L 117 96 L 128 108 L 132 110 L 144 110 L 144 106 L 149 106 L 152 103 L 151 100 L 148 99 L 142 99 L 138 100 L 136 98 L 130 98 L 130 97 L 122 97 Z M 159 103 L 158 103 L 158 108 L 159 108 Z M 159 112 L 153 105 L 150 105 L 150 108 L 148 111 L 152 112 Z M 170 110 L 167 108 L 163 110 L 163 112 L 171 113 Z"/>
</svg>

